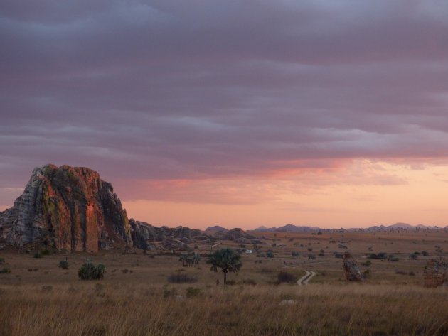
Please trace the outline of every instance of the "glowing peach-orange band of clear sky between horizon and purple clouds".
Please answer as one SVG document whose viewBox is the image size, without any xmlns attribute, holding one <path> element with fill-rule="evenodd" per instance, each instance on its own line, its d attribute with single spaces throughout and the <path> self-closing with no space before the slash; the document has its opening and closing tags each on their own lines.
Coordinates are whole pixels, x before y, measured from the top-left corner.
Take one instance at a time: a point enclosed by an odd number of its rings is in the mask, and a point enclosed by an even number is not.
<svg viewBox="0 0 448 336">
<path fill-rule="evenodd" d="M 156 193 L 164 200 L 125 200 L 124 207 L 129 217 L 151 224 L 200 229 L 214 224 L 254 229 L 288 223 L 331 228 L 395 222 L 445 226 L 447 183 L 446 165 L 355 160 L 334 169 L 265 178 L 165 185 L 158 181 Z M 154 188 L 154 183 L 149 185 Z"/>
</svg>

